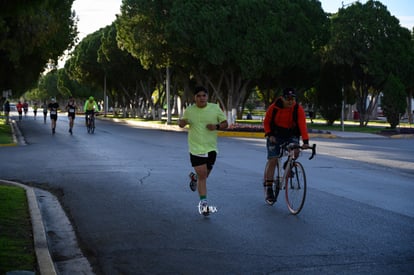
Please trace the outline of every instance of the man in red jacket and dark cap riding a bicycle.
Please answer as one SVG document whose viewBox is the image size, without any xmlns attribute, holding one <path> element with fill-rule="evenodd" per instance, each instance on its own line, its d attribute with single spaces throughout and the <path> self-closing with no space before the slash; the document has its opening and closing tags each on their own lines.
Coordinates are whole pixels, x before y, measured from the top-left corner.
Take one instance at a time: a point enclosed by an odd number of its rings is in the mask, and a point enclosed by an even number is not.
<svg viewBox="0 0 414 275">
<path fill-rule="evenodd" d="M 299 144 L 299 138 L 302 136 L 304 149 L 309 147 L 305 111 L 296 102 L 296 94 L 293 88 L 285 88 L 283 95 L 276 98 L 269 106 L 263 120 L 263 128 L 267 137 L 267 162 L 264 171 L 265 201 L 269 205 L 273 205 L 275 196 L 272 185 L 280 155 L 280 146 L 286 142 Z"/>
</svg>

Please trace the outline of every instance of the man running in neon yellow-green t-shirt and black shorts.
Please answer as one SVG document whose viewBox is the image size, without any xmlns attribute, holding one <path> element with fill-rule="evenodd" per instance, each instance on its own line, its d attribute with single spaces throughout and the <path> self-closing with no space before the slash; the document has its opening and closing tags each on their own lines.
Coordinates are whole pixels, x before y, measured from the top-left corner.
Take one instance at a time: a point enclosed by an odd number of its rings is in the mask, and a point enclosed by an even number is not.
<svg viewBox="0 0 414 275">
<path fill-rule="evenodd" d="M 198 188 L 199 213 L 207 216 L 210 207 L 207 202 L 207 177 L 213 169 L 217 157 L 217 131 L 228 127 L 226 115 L 219 105 L 208 102 L 208 92 L 204 87 L 194 90 L 195 104 L 189 106 L 178 120 L 179 127 L 189 125 L 188 147 L 190 161 L 195 174 L 190 173 L 190 188 Z"/>
</svg>

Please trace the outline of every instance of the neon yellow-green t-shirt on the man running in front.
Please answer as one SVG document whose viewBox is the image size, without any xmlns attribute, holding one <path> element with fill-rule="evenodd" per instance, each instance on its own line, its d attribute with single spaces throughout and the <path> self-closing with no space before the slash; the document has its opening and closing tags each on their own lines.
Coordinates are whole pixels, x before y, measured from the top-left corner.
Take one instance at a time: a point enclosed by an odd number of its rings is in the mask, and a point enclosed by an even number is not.
<svg viewBox="0 0 414 275">
<path fill-rule="evenodd" d="M 217 150 L 217 131 L 207 129 L 207 124 L 217 124 L 226 120 L 226 115 L 215 103 L 207 103 L 206 107 L 197 105 L 188 107 L 183 115 L 189 124 L 188 148 L 193 155 L 207 154 Z"/>
</svg>

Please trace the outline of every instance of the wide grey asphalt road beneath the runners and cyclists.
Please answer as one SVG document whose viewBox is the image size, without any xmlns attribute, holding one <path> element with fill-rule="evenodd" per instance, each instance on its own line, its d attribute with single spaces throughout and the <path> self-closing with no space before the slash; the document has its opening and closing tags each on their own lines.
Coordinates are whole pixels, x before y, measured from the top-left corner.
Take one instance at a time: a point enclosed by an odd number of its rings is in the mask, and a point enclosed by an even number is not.
<svg viewBox="0 0 414 275">
<path fill-rule="evenodd" d="M 52 230 L 54 202 L 42 189 L 59 198 L 96 274 L 414 270 L 412 140 L 313 140 L 318 155 L 301 157 L 307 200 L 292 216 L 283 198 L 272 207 L 264 202 L 264 140 L 220 138 L 208 180 L 218 212 L 205 218 L 188 187 L 185 133 L 98 121 L 89 135 L 83 122 L 70 136 L 61 115 L 53 136 L 49 124 L 25 119 L 28 145 L 0 148 L 0 178 L 40 190 L 48 236 L 60 243 L 52 256 L 61 274 L 76 261 L 63 251 L 62 232 Z"/>
</svg>

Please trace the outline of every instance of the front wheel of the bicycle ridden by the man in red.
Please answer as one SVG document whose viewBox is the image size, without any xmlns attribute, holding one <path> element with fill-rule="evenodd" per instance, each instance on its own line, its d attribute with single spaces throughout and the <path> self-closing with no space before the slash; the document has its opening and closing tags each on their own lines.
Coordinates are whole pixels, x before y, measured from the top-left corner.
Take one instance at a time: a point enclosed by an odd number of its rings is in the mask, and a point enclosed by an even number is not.
<svg viewBox="0 0 414 275">
<path fill-rule="evenodd" d="M 293 215 L 297 215 L 302 210 L 306 198 L 306 175 L 303 165 L 293 162 L 290 169 L 286 167 L 283 182 L 288 209 Z"/>
</svg>

